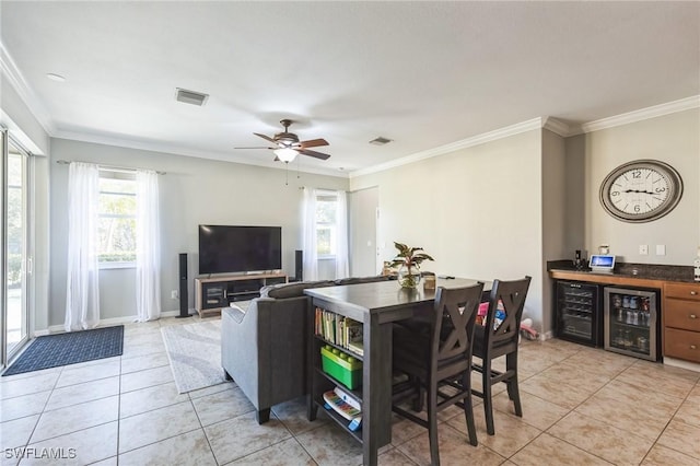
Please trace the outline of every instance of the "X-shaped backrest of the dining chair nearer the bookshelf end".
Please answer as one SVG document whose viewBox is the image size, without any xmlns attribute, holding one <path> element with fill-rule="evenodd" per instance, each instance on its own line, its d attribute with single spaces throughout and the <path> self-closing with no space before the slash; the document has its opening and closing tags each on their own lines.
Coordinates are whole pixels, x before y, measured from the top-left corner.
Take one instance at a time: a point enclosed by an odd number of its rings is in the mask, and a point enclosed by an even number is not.
<svg viewBox="0 0 700 466">
<path fill-rule="evenodd" d="M 435 293 L 435 313 L 431 358 L 440 363 L 458 356 L 469 359 L 474 338 L 474 323 L 483 283 L 446 289 Z"/>
</svg>

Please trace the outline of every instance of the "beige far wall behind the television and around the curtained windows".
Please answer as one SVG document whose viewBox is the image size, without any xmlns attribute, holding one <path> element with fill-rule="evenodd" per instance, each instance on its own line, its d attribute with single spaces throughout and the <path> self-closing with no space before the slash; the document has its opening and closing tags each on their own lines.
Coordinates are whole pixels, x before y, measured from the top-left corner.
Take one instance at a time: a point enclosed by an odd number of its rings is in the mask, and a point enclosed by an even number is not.
<svg viewBox="0 0 700 466">
<path fill-rule="evenodd" d="M 294 275 L 294 249 L 302 248 L 301 189 L 311 186 L 348 189 L 348 179 L 203 159 L 140 151 L 63 139 L 51 141 L 51 268 L 49 325 L 63 319 L 67 264 L 68 165 L 58 160 L 83 161 L 167 172 L 159 178 L 161 197 L 163 311 L 176 311 L 171 299 L 178 289 L 177 260 L 188 253 L 189 307 L 194 307 L 194 277 L 198 272 L 198 225 L 240 224 L 282 226 L 282 268 Z M 103 270 L 100 276 L 103 318 L 136 315 L 133 269 Z"/>
</svg>

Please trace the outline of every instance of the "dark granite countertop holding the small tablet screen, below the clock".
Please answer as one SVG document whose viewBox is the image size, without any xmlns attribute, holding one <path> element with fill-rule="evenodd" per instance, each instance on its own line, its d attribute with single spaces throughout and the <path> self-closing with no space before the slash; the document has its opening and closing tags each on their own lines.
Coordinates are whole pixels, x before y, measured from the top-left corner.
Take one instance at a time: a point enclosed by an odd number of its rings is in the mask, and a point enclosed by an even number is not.
<svg viewBox="0 0 700 466">
<path fill-rule="evenodd" d="M 547 271 L 567 271 L 582 275 L 598 275 L 609 277 L 610 273 L 594 272 L 590 268 L 576 269 L 572 260 L 549 260 L 547 261 Z M 663 280 L 663 281 L 681 281 L 696 283 L 693 280 L 692 266 L 666 266 L 658 264 L 633 264 L 633 263 L 616 263 L 615 277 Z"/>
</svg>

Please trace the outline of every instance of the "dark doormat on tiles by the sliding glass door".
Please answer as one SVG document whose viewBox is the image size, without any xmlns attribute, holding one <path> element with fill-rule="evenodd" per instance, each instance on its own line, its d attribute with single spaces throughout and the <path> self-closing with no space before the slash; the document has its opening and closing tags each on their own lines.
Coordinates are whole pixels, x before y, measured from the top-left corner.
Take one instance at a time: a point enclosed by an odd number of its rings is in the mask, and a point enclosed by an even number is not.
<svg viewBox="0 0 700 466">
<path fill-rule="evenodd" d="M 122 350 L 124 325 L 46 335 L 36 338 L 2 376 L 112 358 Z"/>
</svg>

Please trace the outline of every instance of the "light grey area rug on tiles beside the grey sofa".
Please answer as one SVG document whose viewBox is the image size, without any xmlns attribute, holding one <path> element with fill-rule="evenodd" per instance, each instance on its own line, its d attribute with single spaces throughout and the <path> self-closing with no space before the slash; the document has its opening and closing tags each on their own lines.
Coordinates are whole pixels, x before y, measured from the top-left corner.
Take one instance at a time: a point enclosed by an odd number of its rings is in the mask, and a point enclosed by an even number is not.
<svg viewBox="0 0 700 466">
<path fill-rule="evenodd" d="M 221 321 L 161 328 L 178 393 L 225 382 L 221 368 Z"/>
</svg>

